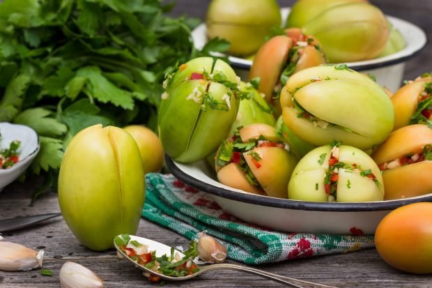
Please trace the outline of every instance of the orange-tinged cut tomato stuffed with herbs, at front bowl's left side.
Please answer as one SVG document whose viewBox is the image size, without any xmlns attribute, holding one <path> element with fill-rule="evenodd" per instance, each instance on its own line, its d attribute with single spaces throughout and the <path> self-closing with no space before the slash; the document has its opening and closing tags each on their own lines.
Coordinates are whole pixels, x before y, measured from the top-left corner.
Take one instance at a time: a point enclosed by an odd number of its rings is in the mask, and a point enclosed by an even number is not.
<svg viewBox="0 0 432 288">
<path fill-rule="evenodd" d="M 286 199 L 297 162 L 274 127 L 254 123 L 222 142 L 215 169 L 218 181 L 231 188 Z"/>
</svg>

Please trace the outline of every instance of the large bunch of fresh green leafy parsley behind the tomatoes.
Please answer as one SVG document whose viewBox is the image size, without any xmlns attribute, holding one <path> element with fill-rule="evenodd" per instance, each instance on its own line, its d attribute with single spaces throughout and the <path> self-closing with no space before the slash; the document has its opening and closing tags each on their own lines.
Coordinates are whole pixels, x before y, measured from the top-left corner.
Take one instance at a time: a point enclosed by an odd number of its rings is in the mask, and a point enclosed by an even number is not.
<svg viewBox="0 0 432 288">
<path fill-rule="evenodd" d="M 197 20 L 168 17 L 162 0 L 4 0 L 0 3 L 0 121 L 30 126 L 41 149 L 31 165 L 55 183 L 63 151 L 96 123 L 155 128 L 162 81 L 201 52 Z"/>
</svg>

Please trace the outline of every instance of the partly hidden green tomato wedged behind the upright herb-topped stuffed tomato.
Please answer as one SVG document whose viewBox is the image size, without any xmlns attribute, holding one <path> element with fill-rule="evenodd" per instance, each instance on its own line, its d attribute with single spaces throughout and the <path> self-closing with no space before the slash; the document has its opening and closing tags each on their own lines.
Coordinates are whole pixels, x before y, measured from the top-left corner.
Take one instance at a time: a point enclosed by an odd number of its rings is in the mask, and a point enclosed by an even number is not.
<svg viewBox="0 0 432 288">
<path fill-rule="evenodd" d="M 247 126 L 252 123 L 264 123 L 275 126 L 275 116 L 273 116 L 272 109 L 263 96 L 251 84 L 245 82 L 241 82 L 240 91 L 249 94 L 247 98 L 240 100 L 236 121 L 231 126 L 229 135 L 233 135 L 238 127 Z"/>
</svg>

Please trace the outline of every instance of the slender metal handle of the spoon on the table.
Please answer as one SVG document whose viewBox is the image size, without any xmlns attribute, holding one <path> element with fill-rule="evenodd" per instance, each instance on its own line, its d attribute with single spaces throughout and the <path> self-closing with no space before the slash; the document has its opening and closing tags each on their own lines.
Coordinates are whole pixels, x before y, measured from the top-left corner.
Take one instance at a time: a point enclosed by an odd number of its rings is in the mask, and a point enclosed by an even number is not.
<svg viewBox="0 0 432 288">
<path fill-rule="evenodd" d="M 243 272 L 247 272 L 247 273 L 252 273 L 255 275 L 259 275 L 263 278 L 268 278 L 268 279 L 274 280 L 276 282 L 288 285 L 288 287 L 295 287 L 295 288 L 304 288 L 304 287 L 335 288 L 333 286 L 327 286 L 327 285 L 318 284 L 318 283 L 314 283 L 314 282 L 299 280 L 299 279 L 295 279 L 295 278 L 289 278 L 286 276 L 277 275 L 277 274 L 262 271 L 259 269 L 255 269 L 255 268 L 251 268 L 251 267 L 247 267 L 247 266 L 240 266 L 240 265 L 236 265 L 236 264 L 222 263 L 222 264 L 213 264 L 213 265 L 208 265 L 208 266 L 201 266 L 200 271 L 196 272 L 195 274 L 201 274 L 201 273 L 204 273 L 206 271 L 211 271 L 211 270 L 224 270 L 224 269 L 238 270 L 238 271 L 243 271 Z"/>
</svg>

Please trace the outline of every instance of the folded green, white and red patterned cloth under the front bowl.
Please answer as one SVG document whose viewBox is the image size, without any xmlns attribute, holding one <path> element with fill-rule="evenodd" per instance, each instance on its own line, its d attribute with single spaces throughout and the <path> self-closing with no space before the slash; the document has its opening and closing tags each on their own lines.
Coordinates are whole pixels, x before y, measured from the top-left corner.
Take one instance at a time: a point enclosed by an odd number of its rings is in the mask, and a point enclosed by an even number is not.
<svg viewBox="0 0 432 288">
<path fill-rule="evenodd" d="M 373 248 L 373 236 L 296 234 L 272 231 L 239 220 L 206 192 L 171 174 L 146 175 L 142 215 L 189 239 L 206 230 L 228 247 L 228 257 L 246 264 L 352 252 Z"/>
</svg>

